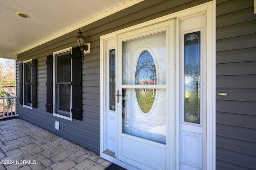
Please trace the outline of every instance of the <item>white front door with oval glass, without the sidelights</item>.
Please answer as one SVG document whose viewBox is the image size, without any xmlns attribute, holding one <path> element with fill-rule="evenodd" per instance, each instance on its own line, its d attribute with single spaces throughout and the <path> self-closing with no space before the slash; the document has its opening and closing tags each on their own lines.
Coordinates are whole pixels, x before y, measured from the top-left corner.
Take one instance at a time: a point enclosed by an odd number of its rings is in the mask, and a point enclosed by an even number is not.
<svg viewBox="0 0 256 170">
<path fill-rule="evenodd" d="M 117 158 L 142 169 L 166 169 L 174 131 L 174 41 L 174 20 L 117 36 Z"/>
</svg>

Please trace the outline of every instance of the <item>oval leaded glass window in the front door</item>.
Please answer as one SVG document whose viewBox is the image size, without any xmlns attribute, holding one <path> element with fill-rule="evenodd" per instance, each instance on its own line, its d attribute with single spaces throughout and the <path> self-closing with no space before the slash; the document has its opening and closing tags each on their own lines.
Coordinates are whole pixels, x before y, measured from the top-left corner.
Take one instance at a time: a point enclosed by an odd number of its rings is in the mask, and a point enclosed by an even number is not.
<svg viewBox="0 0 256 170">
<path fill-rule="evenodd" d="M 148 50 L 142 51 L 135 70 L 135 84 L 156 84 L 156 66 Z M 135 89 L 138 106 L 148 113 L 154 104 L 156 89 Z"/>
</svg>

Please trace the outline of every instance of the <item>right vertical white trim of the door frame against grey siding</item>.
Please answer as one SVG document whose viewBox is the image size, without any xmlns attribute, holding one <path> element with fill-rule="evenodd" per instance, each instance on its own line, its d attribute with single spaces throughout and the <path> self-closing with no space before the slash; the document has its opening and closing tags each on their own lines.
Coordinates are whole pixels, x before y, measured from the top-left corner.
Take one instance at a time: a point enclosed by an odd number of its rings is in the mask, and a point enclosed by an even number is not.
<svg viewBox="0 0 256 170">
<path fill-rule="evenodd" d="M 206 169 L 216 162 L 216 1 L 206 10 Z"/>
</svg>

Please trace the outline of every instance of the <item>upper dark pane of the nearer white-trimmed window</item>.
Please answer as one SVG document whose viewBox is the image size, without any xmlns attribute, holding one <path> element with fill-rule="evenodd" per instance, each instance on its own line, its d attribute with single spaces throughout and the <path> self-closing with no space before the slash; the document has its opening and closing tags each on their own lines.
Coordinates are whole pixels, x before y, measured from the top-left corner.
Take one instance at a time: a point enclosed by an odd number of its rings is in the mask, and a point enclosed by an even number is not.
<svg viewBox="0 0 256 170">
<path fill-rule="evenodd" d="M 71 58 L 70 52 L 65 55 L 56 55 L 55 59 L 55 78 L 56 82 L 70 82 L 71 81 Z"/>
</svg>

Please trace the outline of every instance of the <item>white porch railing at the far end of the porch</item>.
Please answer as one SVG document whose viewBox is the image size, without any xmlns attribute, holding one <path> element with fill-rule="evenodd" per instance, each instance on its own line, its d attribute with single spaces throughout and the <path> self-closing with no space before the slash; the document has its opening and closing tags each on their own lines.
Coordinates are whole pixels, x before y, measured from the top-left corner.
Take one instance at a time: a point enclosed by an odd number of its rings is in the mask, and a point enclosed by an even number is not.
<svg viewBox="0 0 256 170">
<path fill-rule="evenodd" d="M 16 116 L 17 97 L 0 98 L 0 119 Z"/>
</svg>

